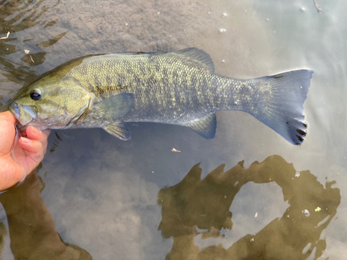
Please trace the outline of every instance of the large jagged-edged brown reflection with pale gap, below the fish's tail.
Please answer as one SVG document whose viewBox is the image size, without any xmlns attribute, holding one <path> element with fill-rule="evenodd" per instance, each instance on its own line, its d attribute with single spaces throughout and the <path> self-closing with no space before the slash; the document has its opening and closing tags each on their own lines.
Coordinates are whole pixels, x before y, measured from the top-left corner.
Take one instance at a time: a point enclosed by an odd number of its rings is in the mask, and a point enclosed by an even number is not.
<svg viewBox="0 0 347 260">
<path fill-rule="evenodd" d="M 219 166 L 201 180 L 202 170 L 196 164 L 179 184 L 160 190 L 159 229 L 164 237 L 174 237 L 167 259 L 307 259 L 310 254 L 312 259 L 321 257 L 326 248 L 321 234 L 335 216 L 341 198 L 339 189 L 331 188 L 335 182 L 326 182 L 324 187 L 310 171 L 296 172 L 278 155 L 262 163 L 254 162 L 249 168 L 244 168 L 243 162 L 226 172 L 223 168 Z M 276 182 L 290 205 L 285 214 L 257 234 L 244 234 L 230 248 L 213 245 L 200 251 L 194 244 L 198 234 L 206 239 L 225 236 L 221 230 L 232 229 L 229 209 L 247 182 Z M 207 230 L 200 232 L 196 227 Z"/>
</svg>

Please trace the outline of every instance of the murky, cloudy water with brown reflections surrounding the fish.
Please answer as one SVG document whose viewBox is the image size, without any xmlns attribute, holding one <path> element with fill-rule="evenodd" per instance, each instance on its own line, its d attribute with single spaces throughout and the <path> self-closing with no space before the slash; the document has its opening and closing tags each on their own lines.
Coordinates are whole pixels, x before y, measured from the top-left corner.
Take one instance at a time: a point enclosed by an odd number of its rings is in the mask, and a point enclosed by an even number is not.
<svg viewBox="0 0 347 260">
<path fill-rule="evenodd" d="M 347 3 L 318 3 L 0 1 L 1 103 L 90 53 L 194 46 L 224 76 L 314 70 L 302 146 L 242 112 L 217 113 L 212 140 L 53 131 L 37 173 L 0 195 L 2 259 L 345 259 Z"/>
</svg>

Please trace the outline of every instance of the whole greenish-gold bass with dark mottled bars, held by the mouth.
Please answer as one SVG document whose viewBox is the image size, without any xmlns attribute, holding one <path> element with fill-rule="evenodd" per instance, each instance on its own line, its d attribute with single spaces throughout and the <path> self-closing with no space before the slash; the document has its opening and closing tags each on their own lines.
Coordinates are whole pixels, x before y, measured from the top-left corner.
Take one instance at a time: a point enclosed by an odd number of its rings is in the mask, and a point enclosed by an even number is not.
<svg viewBox="0 0 347 260">
<path fill-rule="evenodd" d="M 228 78 L 214 74 L 210 55 L 195 48 L 89 55 L 45 73 L 8 105 L 19 130 L 103 128 L 122 140 L 130 139 L 126 122 L 184 125 L 212 139 L 215 112 L 239 110 L 298 145 L 307 134 L 303 103 L 312 73 Z"/>
</svg>

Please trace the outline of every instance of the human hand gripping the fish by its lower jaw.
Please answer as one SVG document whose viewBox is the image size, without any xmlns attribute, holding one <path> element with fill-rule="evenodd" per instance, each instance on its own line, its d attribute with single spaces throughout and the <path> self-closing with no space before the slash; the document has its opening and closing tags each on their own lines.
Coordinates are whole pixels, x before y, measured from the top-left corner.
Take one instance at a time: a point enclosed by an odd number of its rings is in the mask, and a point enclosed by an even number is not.
<svg viewBox="0 0 347 260">
<path fill-rule="evenodd" d="M 19 140 L 12 153 L 16 123 L 17 119 L 11 112 L 0 113 L 0 191 L 22 182 L 46 153 L 50 131 L 40 131 L 32 126 L 19 132 Z"/>
</svg>

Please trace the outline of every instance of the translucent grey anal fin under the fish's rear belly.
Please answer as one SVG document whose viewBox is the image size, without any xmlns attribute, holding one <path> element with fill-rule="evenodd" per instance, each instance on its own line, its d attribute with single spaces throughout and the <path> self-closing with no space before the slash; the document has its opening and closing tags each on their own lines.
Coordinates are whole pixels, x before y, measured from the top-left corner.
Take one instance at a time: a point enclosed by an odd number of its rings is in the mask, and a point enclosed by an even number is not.
<svg viewBox="0 0 347 260">
<path fill-rule="evenodd" d="M 203 117 L 202 119 L 197 119 L 189 123 L 185 123 L 187 128 L 192 129 L 194 132 L 197 132 L 205 139 L 213 139 L 216 135 L 217 128 L 217 118 L 216 114 L 210 114 Z"/>
</svg>

